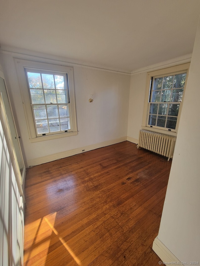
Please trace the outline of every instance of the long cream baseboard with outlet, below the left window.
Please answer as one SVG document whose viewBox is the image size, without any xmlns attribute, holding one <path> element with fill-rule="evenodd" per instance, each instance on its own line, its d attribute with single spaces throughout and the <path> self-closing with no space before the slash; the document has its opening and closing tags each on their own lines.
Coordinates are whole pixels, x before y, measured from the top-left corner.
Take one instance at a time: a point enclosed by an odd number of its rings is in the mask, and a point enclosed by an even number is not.
<svg viewBox="0 0 200 266">
<path fill-rule="evenodd" d="M 91 150 L 95 150 L 98 148 L 102 148 L 102 147 L 106 147 L 109 145 L 113 145 L 116 143 L 120 143 L 123 141 L 126 141 L 127 137 L 122 137 L 122 138 L 117 138 L 117 139 L 112 139 L 112 140 L 108 140 L 108 141 L 104 141 L 104 142 L 100 142 L 100 143 L 95 143 L 92 145 L 88 145 L 88 146 L 84 146 L 84 147 L 80 147 L 80 148 L 76 148 L 76 149 L 72 149 L 72 150 L 68 150 L 68 151 L 64 151 L 64 152 L 57 152 L 54 154 L 50 154 L 50 155 L 46 155 L 46 156 L 42 156 L 42 157 L 37 157 L 31 160 L 27 160 L 25 161 L 25 167 L 30 167 L 30 166 L 35 166 L 35 165 L 39 165 L 42 163 L 46 163 L 46 162 L 52 162 L 61 158 L 65 158 L 65 157 L 69 157 L 72 155 L 76 155 L 79 153 L 83 153 L 83 152 L 88 152 Z M 85 151 L 83 151 L 85 150 Z"/>
</svg>

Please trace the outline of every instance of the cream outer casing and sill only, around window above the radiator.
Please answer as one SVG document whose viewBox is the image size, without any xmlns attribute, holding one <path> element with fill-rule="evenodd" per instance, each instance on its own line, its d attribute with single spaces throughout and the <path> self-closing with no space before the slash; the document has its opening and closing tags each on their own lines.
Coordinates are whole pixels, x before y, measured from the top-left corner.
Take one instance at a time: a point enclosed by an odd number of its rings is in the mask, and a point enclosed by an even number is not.
<svg viewBox="0 0 200 266">
<path fill-rule="evenodd" d="M 186 81 L 185 81 L 185 87 L 184 87 L 183 99 L 182 99 L 182 102 L 184 102 L 184 94 L 185 94 L 185 89 L 186 89 L 186 85 L 187 85 L 187 77 L 188 77 L 189 66 L 190 66 L 190 63 L 187 63 L 187 64 L 176 65 L 176 66 L 172 66 L 172 67 L 168 67 L 168 68 L 160 69 L 160 70 L 155 70 L 155 71 L 147 73 L 142 129 L 153 131 L 153 132 L 167 134 L 167 135 L 170 135 L 170 136 L 177 136 L 178 125 L 179 125 L 179 120 L 180 120 L 181 110 L 182 110 L 183 104 L 181 104 L 180 109 L 179 109 L 176 132 L 168 131 L 168 130 L 165 130 L 165 129 L 159 129 L 159 128 L 155 128 L 155 127 L 152 128 L 152 127 L 147 126 L 148 125 L 148 117 L 149 117 L 148 103 L 149 103 L 149 97 L 150 97 L 150 93 L 151 93 L 150 85 L 151 85 L 152 77 L 159 76 L 159 75 L 168 75 L 168 74 L 172 74 L 174 72 L 186 71 L 187 75 L 186 75 Z"/>
</svg>

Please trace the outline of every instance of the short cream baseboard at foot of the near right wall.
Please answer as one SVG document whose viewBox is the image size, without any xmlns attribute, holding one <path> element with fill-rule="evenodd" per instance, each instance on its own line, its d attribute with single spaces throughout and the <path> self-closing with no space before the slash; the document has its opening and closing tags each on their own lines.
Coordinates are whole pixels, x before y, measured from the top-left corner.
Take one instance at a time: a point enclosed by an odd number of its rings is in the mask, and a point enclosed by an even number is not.
<svg viewBox="0 0 200 266">
<path fill-rule="evenodd" d="M 158 239 L 158 236 L 153 241 L 153 251 L 163 262 L 173 262 L 174 264 L 180 264 L 179 259 Z"/>
</svg>

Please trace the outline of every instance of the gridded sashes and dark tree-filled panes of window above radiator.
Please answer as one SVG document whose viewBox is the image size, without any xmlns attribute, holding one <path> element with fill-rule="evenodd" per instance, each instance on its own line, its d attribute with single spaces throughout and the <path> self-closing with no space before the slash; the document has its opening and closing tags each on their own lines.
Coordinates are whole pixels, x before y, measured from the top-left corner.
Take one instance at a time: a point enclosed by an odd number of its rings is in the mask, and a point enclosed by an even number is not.
<svg viewBox="0 0 200 266">
<path fill-rule="evenodd" d="M 186 71 L 152 78 L 148 126 L 176 131 Z"/>
</svg>

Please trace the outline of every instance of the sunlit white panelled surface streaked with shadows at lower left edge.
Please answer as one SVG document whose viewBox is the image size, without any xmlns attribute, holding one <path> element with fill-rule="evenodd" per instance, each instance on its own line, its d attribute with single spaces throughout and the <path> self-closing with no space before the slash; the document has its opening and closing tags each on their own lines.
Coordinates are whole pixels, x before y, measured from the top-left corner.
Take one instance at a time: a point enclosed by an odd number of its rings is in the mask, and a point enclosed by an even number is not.
<svg viewBox="0 0 200 266">
<path fill-rule="evenodd" d="M 19 195 L 1 121 L 0 154 L 0 265 L 23 265 L 23 199 Z"/>
</svg>

